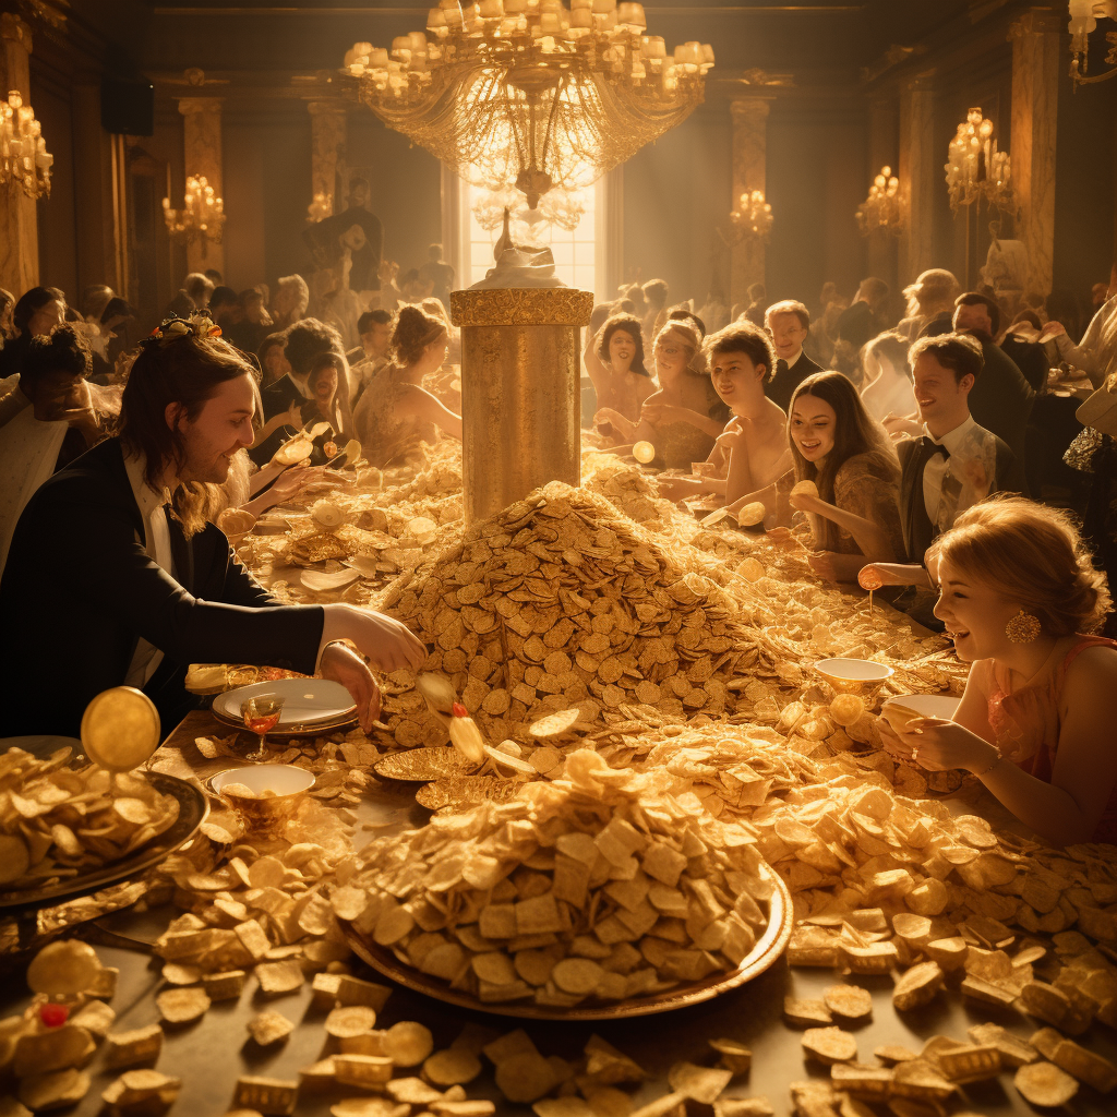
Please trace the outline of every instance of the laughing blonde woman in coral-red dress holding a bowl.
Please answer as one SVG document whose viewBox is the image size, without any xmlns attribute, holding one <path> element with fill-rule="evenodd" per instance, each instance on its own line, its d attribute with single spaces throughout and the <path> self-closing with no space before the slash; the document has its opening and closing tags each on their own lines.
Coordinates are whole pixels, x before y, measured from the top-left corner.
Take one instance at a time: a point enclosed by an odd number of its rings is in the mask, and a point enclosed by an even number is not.
<svg viewBox="0 0 1117 1117">
<path fill-rule="evenodd" d="M 953 720 L 882 725 L 886 746 L 972 772 L 1056 844 L 1117 843 L 1117 643 L 1089 634 L 1111 601 L 1076 528 L 1030 500 L 992 499 L 927 560 L 935 615 L 973 666 Z"/>
</svg>

